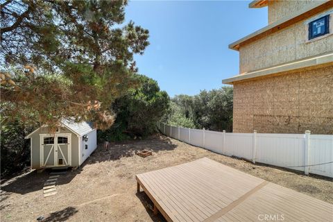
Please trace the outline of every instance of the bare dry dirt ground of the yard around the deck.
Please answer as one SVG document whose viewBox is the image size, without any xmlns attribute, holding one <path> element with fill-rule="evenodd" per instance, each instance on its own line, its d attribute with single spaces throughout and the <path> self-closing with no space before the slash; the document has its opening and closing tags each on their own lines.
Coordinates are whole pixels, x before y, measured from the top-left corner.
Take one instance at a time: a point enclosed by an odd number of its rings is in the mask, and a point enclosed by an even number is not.
<svg viewBox="0 0 333 222">
<path fill-rule="evenodd" d="M 153 151 L 153 155 L 135 155 L 143 149 Z M 43 196 L 48 171 L 32 171 L 1 181 L 1 221 L 36 221 L 38 216 L 43 216 L 44 221 L 164 221 L 160 214 L 154 216 L 148 209 L 151 202 L 146 194 L 136 193 L 135 175 L 201 157 L 333 203 L 330 179 L 254 165 L 155 135 L 114 143 L 108 151 L 97 148 L 80 169 L 60 176 L 54 196 Z"/>
</svg>

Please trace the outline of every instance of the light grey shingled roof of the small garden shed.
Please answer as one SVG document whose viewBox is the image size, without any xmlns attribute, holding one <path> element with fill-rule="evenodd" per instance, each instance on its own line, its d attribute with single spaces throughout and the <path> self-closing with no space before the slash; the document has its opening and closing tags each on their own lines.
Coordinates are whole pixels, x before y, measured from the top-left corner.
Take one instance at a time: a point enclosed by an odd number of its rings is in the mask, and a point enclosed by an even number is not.
<svg viewBox="0 0 333 222">
<path fill-rule="evenodd" d="M 62 119 L 59 122 L 60 122 L 61 126 L 64 126 L 65 128 L 71 130 L 71 132 L 78 135 L 78 137 L 81 137 L 87 133 L 90 133 L 92 130 L 94 130 L 93 124 L 91 122 L 87 122 L 87 121 L 82 121 L 82 122 L 76 123 L 74 120 L 71 120 L 71 119 Z M 40 128 L 46 127 L 46 126 L 47 125 L 43 125 Z M 25 139 L 30 138 L 31 135 L 33 135 L 33 133 L 35 133 L 40 128 L 33 130 L 32 133 L 30 133 L 29 135 L 27 135 L 24 138 Z"/>
</svg>

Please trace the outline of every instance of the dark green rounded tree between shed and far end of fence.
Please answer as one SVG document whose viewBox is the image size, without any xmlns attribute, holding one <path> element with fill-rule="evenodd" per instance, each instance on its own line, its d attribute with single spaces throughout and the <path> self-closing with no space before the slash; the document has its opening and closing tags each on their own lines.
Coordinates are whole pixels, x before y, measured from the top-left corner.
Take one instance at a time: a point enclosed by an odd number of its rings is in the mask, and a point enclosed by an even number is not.
<svg viewBox="0 0 333 222">
<path fill-rule="evenodd" d="M 137 75 L 140 87 L 130 89 L 126 96 L 117 99 L 112 109 L 117 112 L 114 125 L 99 132 L 99 139 L 108 141 L 128 139 L 130 136 L 144 137 L 154 132 L 156 123 L 169 108 L 167 92 L 160 91 L 157 82 Z"/>
</svg>

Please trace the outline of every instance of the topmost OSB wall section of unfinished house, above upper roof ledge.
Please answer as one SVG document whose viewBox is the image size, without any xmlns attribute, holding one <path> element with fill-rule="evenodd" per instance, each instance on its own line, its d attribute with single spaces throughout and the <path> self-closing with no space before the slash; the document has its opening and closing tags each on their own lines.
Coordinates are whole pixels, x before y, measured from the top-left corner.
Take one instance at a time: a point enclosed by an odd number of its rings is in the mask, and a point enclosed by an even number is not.
<svg viewBox="0 0 333 222">
<path fill-rule="evenodd" d="M 268 24 L 276 22 L 293 12 L 318 0 L 274 0 L 268 1 Z"/>
</svg>

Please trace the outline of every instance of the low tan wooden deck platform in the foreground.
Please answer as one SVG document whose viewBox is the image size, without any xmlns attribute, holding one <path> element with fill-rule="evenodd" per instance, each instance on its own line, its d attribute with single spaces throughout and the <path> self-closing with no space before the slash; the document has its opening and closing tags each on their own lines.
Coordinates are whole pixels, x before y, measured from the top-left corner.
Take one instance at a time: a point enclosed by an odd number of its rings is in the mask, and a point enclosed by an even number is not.
<svg viewBox="0 0 333 222">
<path fill-rule="evenodd" d="M 136 179 L 167 221 L 333 221 L 333 205 L 208 158 Z"/>
</svg>

